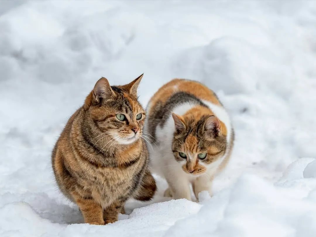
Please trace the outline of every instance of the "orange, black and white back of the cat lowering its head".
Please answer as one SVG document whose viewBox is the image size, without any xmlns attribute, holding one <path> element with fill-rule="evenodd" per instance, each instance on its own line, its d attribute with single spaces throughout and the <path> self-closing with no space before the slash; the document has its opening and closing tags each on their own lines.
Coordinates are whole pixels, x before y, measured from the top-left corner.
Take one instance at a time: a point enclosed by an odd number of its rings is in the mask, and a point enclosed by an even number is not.
<svg viewBox="0 0 316 237">
<path fill-rule="evenodd" d="M 173 79 L 159 88 L 150 99 L 147 106 L 147 131 L 155 139 L 157 139 L 158 130 L 173 133 L 171 113 L 184 115 L 194 108 L 197 108 L 199 116 L 216 115 L 221 120 L 225 132 L 230 129 L 226 129 L 230 124 L 228 114 L 210 88 L 197 81 Z M 170 125 L 168 125 L 168 120 Z"/>
</svg>

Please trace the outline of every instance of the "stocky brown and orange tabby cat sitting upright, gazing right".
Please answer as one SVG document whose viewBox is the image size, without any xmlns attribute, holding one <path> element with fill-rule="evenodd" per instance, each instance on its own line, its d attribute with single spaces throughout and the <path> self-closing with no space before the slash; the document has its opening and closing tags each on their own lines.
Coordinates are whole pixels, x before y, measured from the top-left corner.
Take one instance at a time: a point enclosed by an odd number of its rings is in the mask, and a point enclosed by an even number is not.
<svg viewBox="0 0 316 237">
<path fill-rule="evenodd" d="M 154 196 L 142 137 L 146 115 L 137 100 L 142 77 L 124 86 L 110 86 L 106 78 L 96 82 L 52 151 L 57 184 L 79 206 L 85 223 L 115 222 L 128 198 Z"/>
</svg>

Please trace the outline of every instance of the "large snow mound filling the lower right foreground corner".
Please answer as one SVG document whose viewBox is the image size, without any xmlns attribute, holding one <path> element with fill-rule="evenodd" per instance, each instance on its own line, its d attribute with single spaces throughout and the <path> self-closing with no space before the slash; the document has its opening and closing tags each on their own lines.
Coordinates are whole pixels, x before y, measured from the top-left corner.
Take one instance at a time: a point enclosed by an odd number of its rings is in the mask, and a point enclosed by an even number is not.
<svg viewBox="0 0 316 237">
<path fill-rule="evenodd" d="M 178 221 L 166 236 L 314 236 L 315 203 L 295 197 L 298 191 L 243 175 L 196 215 Z"/>
</svg>

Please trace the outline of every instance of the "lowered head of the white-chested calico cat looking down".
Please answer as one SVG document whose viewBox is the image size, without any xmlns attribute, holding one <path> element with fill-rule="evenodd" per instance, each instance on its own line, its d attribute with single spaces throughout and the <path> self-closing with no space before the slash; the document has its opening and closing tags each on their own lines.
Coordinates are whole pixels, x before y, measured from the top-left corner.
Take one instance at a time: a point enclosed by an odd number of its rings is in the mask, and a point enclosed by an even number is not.
<svg viewBox="0 0 316 237">
<path fill-rule="evenodd" d="M 185 121 L 174 113 L 172 116 L 176 128 L 172 150 L 182 169 L 188 174 L 200 175 L 217 165 L 227 147 L 219 120 L 215 116 L 202 116 Z"/>
</svg>

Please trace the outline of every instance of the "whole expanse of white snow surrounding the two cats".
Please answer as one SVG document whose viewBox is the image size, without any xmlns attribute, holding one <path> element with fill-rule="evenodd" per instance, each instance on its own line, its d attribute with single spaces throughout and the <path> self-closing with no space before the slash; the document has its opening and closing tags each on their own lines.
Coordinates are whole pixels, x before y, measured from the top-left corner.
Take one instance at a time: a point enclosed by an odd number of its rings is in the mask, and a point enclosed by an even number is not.
<svg viewBox="0 0 316 237">
<path fill-rule="evenodd" d="M 150 205 L 80 224 L 52 147 L 97 79 L 141 73 L 143 105 L 174 77 L 216 91 L 231 162 L 200 203 L 162 197 L 157 177 Z M 0 108 L 1 237 L 316 236 L 316 2 L 1 1 Z"/>
</svg>

